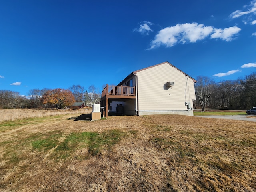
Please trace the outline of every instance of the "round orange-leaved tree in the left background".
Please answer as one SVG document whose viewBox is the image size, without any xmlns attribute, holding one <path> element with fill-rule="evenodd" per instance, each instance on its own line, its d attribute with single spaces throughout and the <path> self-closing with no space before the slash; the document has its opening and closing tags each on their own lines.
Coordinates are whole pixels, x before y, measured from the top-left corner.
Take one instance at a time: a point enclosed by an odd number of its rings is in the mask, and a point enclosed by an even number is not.
<svg viewBox="0 0 256 192">
<path fill-rule="evenodd" d="M 75 97 L 68 89 L 52 89 L 42 95 L 42 103 L 49 107 L 62 108 L 71 106 L 75 102 Z"/>
</svg>

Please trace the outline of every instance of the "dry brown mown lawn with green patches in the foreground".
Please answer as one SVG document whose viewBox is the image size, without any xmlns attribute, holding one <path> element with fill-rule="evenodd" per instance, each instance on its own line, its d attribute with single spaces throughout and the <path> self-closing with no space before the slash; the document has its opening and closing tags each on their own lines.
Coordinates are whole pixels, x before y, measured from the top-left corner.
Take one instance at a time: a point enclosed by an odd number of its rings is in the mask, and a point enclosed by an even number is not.
<svg viewBox="0 0 256 192">
<path fill-rule="evenodd" d="M 256 192 L 256 123 L 60 114 L 0 124 L 0 192 Z"/>
</svg>

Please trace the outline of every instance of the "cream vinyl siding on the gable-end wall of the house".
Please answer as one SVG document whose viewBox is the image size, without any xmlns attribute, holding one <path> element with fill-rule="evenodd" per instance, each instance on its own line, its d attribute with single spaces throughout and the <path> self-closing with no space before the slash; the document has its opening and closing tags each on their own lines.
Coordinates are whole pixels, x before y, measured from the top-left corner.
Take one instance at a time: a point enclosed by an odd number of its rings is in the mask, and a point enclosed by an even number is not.
<svg viewBox="0 0 256 192">
<path fill-rule="evenodd" d="M 188 110 L 185 102 L 196 99 L 191 78 L 164 63 L 137 72 L 139 111 Z M 174 82 L 168 88 L 166 82 Z"/>
</svg>

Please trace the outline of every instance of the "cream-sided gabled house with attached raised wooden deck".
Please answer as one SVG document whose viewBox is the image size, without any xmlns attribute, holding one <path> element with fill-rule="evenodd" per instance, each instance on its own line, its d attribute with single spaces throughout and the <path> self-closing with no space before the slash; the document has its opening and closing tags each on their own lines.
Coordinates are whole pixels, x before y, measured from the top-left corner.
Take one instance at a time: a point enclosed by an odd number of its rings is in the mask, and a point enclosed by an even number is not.
<svg viewBox="0 0 256 192">
<path fill-rule="evenodd" d="M 102 91 L 101 106 L 125 115 L 181 114 L 193 116 L 196 80 L 169 62 L 130 73 L 117 86 Z"/>
</svg>

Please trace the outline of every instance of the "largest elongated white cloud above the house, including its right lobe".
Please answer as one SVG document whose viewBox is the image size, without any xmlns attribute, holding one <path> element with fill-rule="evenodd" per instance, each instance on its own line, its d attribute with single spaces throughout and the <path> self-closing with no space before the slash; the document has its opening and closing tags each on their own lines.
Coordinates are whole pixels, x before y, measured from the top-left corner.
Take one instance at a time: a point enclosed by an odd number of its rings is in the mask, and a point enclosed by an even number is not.
<svg viewBox="0 0 256 192">
<path fill-rule="evenodd" d="M 176 24 L 176 26 L 160 30 L 154 40 L 152 40 L 150 49 L 157 48 L 161 45 L 172 47 L 178 43 L 194 43 L 208 36 L 210 38 L 220 38 L 230 41 L 240 30 L 241 28 L 236 26 L 225 29 L 214 29 L 212 26 L 204 26 L 204 24 L 198 23 Z"/>
</svg>

